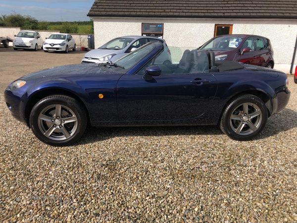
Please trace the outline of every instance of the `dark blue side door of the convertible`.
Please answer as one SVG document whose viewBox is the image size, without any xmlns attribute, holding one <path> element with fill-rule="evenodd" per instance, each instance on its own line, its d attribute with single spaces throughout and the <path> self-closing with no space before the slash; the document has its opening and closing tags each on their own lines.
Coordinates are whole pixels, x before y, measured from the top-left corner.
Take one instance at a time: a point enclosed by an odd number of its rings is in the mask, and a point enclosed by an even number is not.
<svg viewBox="0 0 297 223">
<path fill-rule="evenodd" d="M 176 66 L 176 64 L 164 64 Z M 144 80 L 125 74 L 117 83 L 119 120 L 180 120 L 203 114 L 211 105 L 217 81 L 210 73 L 161 74 Z"/>
</svg>

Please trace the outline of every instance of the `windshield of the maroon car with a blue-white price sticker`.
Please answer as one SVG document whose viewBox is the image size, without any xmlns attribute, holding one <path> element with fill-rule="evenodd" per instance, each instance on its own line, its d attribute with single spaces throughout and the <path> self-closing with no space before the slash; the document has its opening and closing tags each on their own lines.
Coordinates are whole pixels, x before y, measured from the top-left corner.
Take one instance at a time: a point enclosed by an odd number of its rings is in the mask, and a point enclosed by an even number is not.
<svg viewBox="0 0 297 223">
<path fill-rule="evenodd" d="M 218 37 L 204 44 L 199 50 L 230 51 L 238 48 L 243 39 L 236 36 Z"/>
</svg>

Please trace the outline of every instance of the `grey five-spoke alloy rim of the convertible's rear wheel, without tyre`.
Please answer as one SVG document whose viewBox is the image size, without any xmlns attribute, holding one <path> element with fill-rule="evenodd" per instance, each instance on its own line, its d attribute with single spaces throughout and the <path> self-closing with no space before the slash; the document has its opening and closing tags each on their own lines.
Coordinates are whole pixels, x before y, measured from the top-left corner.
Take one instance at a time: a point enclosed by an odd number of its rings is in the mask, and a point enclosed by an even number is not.
<svg viewBox="0 0 297 223">
<path fill-rule="evenodd" d="M 232 111 L 230 126 L 239 135 L 249 135 L 262 123 L 262 111 L 253 103 L 243 103 Z"/>
</svg>

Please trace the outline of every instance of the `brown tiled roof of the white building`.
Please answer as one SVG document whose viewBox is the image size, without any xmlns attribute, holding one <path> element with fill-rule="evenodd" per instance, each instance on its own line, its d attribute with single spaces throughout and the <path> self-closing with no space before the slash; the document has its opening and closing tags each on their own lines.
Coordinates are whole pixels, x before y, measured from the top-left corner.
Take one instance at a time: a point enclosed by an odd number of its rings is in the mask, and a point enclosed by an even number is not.
<svg viewBox="0 0 297 223">
<path fill-rule="evenodd" d="M 95 0 L 88 16 L 297 19 L 297 0 Z"/>
</svg>

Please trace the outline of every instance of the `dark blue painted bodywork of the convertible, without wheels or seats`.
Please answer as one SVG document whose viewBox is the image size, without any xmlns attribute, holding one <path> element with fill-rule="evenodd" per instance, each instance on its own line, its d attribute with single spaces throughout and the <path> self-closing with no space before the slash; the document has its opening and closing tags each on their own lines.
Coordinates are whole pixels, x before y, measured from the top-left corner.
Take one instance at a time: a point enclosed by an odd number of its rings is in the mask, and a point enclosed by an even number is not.
<svg viewBox="0 0 297 223">
<path fill-rule="evenodd" d="M 285 73 L 232 61 L 216 61 L 227 65 L 198 73 L 166 73 L 178 65 L 159 64 L 161 75 L 144 78 L 138 72 L 163 48 L 151 45 L 153 50 L 123 72 L 108 65 L 75 64 L 23 76 L 24 86 L 11 90 L 10 84 L 5 90 L 6 104 L 29 127 L 33 107 L 50 95 L 78 101 L 92 126 L 143 126 L 216 125 L 230 102 L 243 95 L 261 99 L 268 117 L 289 101 Z"/>
</svg>

